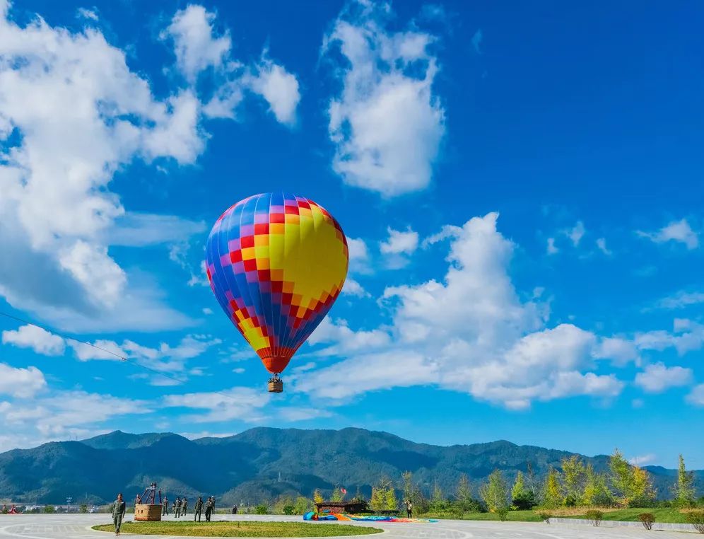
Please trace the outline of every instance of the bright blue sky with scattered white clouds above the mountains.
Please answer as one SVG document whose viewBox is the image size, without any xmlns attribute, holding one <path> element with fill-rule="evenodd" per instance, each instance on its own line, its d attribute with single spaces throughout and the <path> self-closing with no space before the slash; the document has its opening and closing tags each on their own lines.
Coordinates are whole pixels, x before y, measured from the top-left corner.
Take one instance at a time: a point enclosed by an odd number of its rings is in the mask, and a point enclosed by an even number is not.
<svg viewBox="0 0 704 539">
<path fill-rule="evenodd" d="M 704 468 L 704 6 L 0 0 L 0 449 L 366 427 Z M 309 197 L 351 245 L 286 391 L 201 269 Z M 667 436 L 653 436 L 667 433 Z"/>
</svg>

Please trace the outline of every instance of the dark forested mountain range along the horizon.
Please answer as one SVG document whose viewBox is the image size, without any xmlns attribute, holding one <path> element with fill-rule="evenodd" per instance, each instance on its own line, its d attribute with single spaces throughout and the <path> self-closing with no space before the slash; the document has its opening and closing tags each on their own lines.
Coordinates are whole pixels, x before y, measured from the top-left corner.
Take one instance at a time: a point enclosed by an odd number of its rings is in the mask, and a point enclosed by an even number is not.
<svg viewBox="0 0 704 539">
<path fill-rule="evenodd" d="M 213 494 L 220 505 L 251 504 L 279 494 L 312 495 L 336 485 L 351 494 L 369 496 L 380 477 L 400 482 L 410 470 L 426 492 L 437 484 L 453 492 L 459 476 L 474 487 L 495 469 L 512 480 L 527 463 L 536 475 L 560 468 L 575 453 L 508 441 L 433 446 L 416 444 L 393 434 L 365 429 L 301 430 L 259 427 L 226 438 L 189 440 L 171 433 L 127 434 L 122 431 L 83 441 L 62 441 L 32 449 L 0 453 L 0 499 L 25 503 L 75 502 L 99 504 L 124 492 L 127 499 L 156 481 L 170 499 Z M 597 470 L 609 457 L 582 456 Z M 676 470 L 645 467 L 660 497 L 667 497 Z M 704 470 L 695 472 L 699 494 Z"/>
</svg>

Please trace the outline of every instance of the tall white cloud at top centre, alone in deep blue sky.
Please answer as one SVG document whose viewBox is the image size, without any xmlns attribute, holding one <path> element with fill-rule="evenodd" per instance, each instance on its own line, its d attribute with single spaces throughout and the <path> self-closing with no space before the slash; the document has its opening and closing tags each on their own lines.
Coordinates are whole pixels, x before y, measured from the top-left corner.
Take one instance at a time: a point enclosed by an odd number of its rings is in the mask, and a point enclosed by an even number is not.
<svg viewBox="0 0 704 539">
<path fill-rule="evenodd" d="M 433 174 L 445 133 L 445 110 L 433 93 L 435 37 L 385 28 L 389 4 L 352 2 L 325 37 L 341 93 L 329 104 L 333 169 L 348 185 L 386 197 L 422 190 Z"/>
</svg>

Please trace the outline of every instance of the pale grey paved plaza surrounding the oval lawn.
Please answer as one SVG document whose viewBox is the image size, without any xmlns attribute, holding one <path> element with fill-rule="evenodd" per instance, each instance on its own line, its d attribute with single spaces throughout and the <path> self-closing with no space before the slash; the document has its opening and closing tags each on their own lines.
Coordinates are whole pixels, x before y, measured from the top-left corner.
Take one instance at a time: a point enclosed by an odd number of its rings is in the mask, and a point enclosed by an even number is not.
<svg viewBox="0 0 704 539">
<path fill-rule="evenodd" d="M 131 518 L 128 515 L 126 521 Z M 190 516 L 193 518 L 193 516 Z M 165 519 L 171 520 L 172 517 Z M 0 539 L 53 539 L 77 538 L 100 539 L 110 537 L 110 533 L 93 531 L 90 526 L 109 523 L 108 514 L 72 514 L 72 515 L 0 515 Z M 262 516 L 262 515 L 216 515 L 215 520 L 228 521 L 295 521 L 300 522 L 300 516 Z M 356 526 L 370 526 L 368 523 L 354 523 Z M 317 523 L 310 523 L 317 526 Z M 568 526 L 561 523 L 510 523 L 481 521 L 439 521 L 436 523 L 375 523 L 373 526 L 383 528 L 384 536 L 393 538 L 417 539 L 468 539 L 468 538 L 521 538 L 521 539 L 577 539 L 577 538 L 652 538 L 659 539 L 688 536 L 698 537 L 698 534 L 684 534 L 681 531 L 648 532 L 643 528 L 593 528 L 592 526 Z M 134 538 L 154 538 L 157 535 L 129 535 Z M 392 537 L 390 537 L 392 536 Z"/>
</svg>

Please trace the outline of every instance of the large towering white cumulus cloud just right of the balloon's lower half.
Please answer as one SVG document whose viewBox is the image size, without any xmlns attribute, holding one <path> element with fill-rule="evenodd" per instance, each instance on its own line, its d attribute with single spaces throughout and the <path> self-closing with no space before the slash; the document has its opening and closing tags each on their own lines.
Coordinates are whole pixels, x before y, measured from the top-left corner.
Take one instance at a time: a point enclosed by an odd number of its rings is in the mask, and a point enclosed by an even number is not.
<svg viewBox="0 0 704 539">
<path fill-rule="evenodd" d="M 345 359 L 296 378 L 295 390 L 341 402 L 427 384 L 514 410 L 535 400 L 618 395 L 623 382 L 593 370 L 602 356 L 626 357 L 626 346 L 572 324 L 546 328 L 547 307 L 515 291 L 508 274 L 515 245 L 497 230 L 497 219 L 488 214 L 446 228 L 443 236 L 452 240 L 444 279 L 387 287 L 389 327 L 321 325 L 312 344 L 336 343 L 327 351 Z"/>
</svg>

